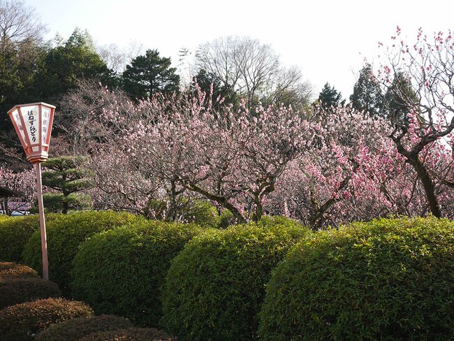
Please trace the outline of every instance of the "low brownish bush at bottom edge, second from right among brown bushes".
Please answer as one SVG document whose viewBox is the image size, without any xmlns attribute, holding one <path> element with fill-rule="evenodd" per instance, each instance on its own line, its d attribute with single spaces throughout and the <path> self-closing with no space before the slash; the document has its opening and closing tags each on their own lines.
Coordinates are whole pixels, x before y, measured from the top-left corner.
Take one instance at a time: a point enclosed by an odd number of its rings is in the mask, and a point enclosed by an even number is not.
<svg viewBox="0 0 454 341">
<path fill-rule="evenodd" d="M 36 335 L 35 341 L 78 341 L 92 333 L 133 328 L 131 321 L 112 315 L 78 317 L 54 324 Z"/>
</svg>

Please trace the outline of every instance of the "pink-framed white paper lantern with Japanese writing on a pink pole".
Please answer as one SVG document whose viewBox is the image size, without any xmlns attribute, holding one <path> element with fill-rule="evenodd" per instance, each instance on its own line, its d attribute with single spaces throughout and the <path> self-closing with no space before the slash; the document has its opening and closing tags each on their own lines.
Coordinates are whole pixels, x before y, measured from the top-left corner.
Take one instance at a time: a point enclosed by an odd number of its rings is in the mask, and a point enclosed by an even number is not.
<svg viewBox="0 0 454 341">
<path fill-rule="evenodd" d="M 47 239 L 43 206 L 43 184 L 41 182 L 41 162 L 47 160 L 47 157 L 49 157 L 50 133 L 54 120 L 54 110 L 54 106 L 39 102 L 20 104 L 8 111 L 8 115 L 13 122 L 20 143 L 27 155 L 27 160 L 34 164 L 36 170 L 44 280 L 49 280 L 49 263 L 47 261 Z"/>
</svg>

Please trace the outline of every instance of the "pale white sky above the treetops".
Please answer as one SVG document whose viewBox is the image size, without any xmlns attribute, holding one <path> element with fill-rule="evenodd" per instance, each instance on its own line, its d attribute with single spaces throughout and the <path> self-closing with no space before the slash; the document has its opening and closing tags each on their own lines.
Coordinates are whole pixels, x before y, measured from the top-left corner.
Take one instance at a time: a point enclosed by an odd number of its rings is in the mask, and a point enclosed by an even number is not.
<svg viewBox="0 0 454 341">
<path fill-rule="evenodd" d="M 258 38 L 296 64 L 318 95 L 330 82 L 347 98 L 365 57 L 379 55 L 396 26 L 413 38 L 454 29 L 450 0 L 24 0 L 36 8 L 52 38 L 64 38 L 75 27 L 87 29 L 100 45 L 131 41 L 157 49 L 177 64 L 180 48 L 229 35 Z"/>
</svg>

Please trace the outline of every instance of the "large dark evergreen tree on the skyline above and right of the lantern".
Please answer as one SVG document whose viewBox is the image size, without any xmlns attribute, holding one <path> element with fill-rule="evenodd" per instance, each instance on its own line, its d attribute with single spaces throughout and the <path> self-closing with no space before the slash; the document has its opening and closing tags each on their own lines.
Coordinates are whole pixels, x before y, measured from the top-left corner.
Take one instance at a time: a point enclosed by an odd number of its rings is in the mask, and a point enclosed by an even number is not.
<svg viewBox="0 0 454 341">
<path fill-rule="evenodd" d="M 116 85 L 114 73 L 94 50 L 91 36 L 75 29 L 66 43 L 50 49 L 41 59 L 34 91 L 41 101 L 54 101 L 84 78 Z"/>
</svg>

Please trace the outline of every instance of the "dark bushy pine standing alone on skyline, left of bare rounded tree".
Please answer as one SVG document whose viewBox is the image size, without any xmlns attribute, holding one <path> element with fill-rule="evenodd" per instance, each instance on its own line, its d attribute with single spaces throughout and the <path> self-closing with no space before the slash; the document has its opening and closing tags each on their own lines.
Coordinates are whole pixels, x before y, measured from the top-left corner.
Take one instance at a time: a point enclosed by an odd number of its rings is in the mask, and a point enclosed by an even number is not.
<svg viewBox="0 0 454 341">
<path fill-rule="evenodd" d="M 145 99 L 156 92 L 178 91 L 180 75 L 177 68 L 170 67 L 170 58 L 159 57 L 158 50 L 147 50 L 126 65 L 122 82 L 124 91 L 133 99 Z"/>
</svg>

